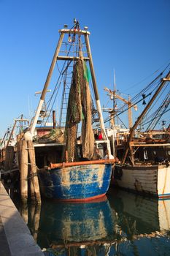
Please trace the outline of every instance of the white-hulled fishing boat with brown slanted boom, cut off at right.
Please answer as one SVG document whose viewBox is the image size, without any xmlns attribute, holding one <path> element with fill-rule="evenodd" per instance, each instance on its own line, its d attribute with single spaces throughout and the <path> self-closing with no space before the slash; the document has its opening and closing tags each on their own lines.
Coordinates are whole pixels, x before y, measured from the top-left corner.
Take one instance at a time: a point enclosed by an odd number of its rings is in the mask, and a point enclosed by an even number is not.
<svg viewBox="0 0 170 256">
<path fill-rule="evenodd" d="M 136 137 L 135 132 L 140 122 L 150 110 L 158 95 L 165 89 L 170 81 L 170 72 L 161 78 L 152 98 L 137 118 L 129 131 L 127 142 L 124 143 L 124 154 L 119 165 L 115 165 L 114 184 L 123 189 L 129 189 L 141 194 L 156 196 L 160 199 L 170 197 L 170 143 L 169 130 L 166 132 L 140 132 Z M 158 116 L 164 113 L 169 106 L 169 93 L 158 108 Z M 157 121 L 157 118 L 153 118 Z M 155 138 L 148 138 L 155 133 Z M 163 135 L 156 138 L 156 135 Z"/>
</svg>

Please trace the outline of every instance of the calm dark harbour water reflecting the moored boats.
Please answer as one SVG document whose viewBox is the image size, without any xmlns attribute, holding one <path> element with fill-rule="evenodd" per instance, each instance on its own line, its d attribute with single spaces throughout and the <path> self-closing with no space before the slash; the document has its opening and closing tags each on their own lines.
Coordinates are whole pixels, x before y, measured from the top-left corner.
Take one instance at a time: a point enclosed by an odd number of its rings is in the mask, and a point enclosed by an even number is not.
<svg viewBox="0 0 170 256">
<path fill-rule="evenodd" d="M 170 255 L 170 200 L 110 189 L 91 203 L 18 209 L 45 255 Z"/>
</svg>

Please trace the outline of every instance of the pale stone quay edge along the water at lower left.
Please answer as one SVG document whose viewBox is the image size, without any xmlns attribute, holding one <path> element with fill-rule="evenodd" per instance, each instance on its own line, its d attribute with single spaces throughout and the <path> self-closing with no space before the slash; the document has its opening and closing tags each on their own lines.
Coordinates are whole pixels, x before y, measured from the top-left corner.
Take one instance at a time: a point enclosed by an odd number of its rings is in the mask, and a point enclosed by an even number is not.
<svg viewBox="0 0 170 256">
<path fill-rule="evenodd" d="M 43 256 L 0 181 L 0 255 Z"/>
</svg>

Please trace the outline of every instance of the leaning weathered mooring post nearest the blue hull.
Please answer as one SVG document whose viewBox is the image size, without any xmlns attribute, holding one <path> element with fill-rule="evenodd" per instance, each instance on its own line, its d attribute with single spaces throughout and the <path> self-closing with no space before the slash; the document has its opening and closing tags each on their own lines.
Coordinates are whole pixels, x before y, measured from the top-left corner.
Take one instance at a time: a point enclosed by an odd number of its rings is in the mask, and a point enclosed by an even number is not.
<svg viewBox="0 0 170 256">
<path fill-rule="evenodd" d="M 36 203 L 41 203 L 41 196 L 39 192 L 39 180 L 36 173 L 36 158 L 35 158 L 34 145 L 31 140 L 28 140 L 27 143 L 28 143 L 28 155 L 29 155 L 29 160 L 31 164 L 31 176 L 32 176 L 31 181 L 34 187 L 35 200 L 36 200 Z"/>
</svg>

